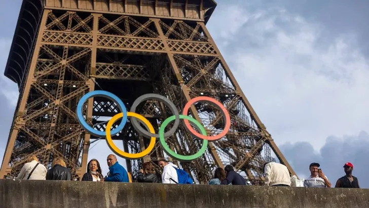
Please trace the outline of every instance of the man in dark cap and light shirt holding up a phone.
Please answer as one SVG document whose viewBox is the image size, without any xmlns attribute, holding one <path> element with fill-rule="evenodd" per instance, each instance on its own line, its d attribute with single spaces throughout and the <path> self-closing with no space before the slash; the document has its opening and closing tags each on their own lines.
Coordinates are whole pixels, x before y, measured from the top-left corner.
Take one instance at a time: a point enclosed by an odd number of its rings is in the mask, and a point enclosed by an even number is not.
<svg viewBox="0 0 369 208">
<path fill-rule="evenodd" d="M 331 184 L 328 180 L 328 178 L 323 174 L 322 171 L 318 172 L 318 167 L 320 167 L 319 163 L 313 162 L 310 164 L 310 177 L 308 179 L 305 179 L 304 181 L 304 187 L 311 187 L 311 188 L 317 188 L 317 187 L 327 187 L 330 188 Z"/>
</svg>

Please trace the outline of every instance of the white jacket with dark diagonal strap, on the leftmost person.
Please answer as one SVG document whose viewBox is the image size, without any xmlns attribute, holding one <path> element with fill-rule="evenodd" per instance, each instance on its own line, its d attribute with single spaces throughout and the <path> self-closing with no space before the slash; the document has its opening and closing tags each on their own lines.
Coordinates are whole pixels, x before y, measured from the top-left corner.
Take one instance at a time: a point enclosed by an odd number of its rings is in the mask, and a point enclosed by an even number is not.
<svg viewBox="0 0 369 208">
<path fill-rule="evenodd" d="M 28 175 L 31 173 L 33 167 L 37 164 L 35 160 L 27 162 L 23 165 L 22 169 L 19 172 L 17 179 L 27 179 Z M 39 164 L 36 169 L 33 170 L 31 177 L 29 180 L 46 180 L 46 173 L 48 170 L 43 164 Z"/>
</svg>

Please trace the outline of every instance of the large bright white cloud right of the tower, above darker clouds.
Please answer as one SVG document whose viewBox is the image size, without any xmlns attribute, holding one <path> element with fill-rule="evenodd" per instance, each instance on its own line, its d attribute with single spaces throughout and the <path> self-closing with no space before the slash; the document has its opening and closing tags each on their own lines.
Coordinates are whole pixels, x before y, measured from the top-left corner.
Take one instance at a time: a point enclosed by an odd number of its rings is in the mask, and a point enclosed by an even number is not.
<svg viewBox="0 0 369 208">
<path fill-rule="evenodd" d="M 208 27 L 276 143 L 319 150 L 330 135 L 368 131 L 369 66 L 353 32 L 330 38 L 284 8 L 246 6 L 218 7 Z"/>
</svg>

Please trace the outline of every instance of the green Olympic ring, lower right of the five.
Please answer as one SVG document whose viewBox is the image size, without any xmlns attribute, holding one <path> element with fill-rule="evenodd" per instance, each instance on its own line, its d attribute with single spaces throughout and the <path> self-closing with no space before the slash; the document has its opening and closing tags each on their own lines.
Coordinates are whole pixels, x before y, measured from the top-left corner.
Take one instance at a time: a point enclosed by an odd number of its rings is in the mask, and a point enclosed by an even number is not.
<svg viewBox="0 0 369 208">
<path fill-rule="evenodd" d="M 206 148 L 207 148 L 207 145 L 208 145 L 208 141 L 207 140 L 202 140 L 202 146 L 201 146 L 201 149 L 193 154 L 193 155 L 180 155 L 180 154 L 177 154 L 175 153 L 173 150 L 171 150 L 169 148 L 169 146 L 167 145 L 167 143 L 165 142 L 165 138 L 164 138 L 164 130 L 165 130 L 165 127 L 175 119 L 175 115 L 165 119 L 165 121 L 162 123 L 162 125 L 160 126 L 160 129 L 159 129 L 159 138 L 160 138 L 160 145 L 162 146 L 162 148 L 164 149 L 164 151 L 169 155 L 171 156 L 172 158 L 176 159 L 176 160 L 179 160 L 179 161 L 192 161 L 192 160 L 195 160 L 197 158 L 199 158 L 202 154 L 205 153 L 206 151 Z M 192 118 L 192 117 L 189 117 L 189 116 L 185 116 L 185 115 L 179 115 L 179 119 L 187 119 L 189 120 L 190 122 L 194 123 L 198 129 L 200 129 L 201 133 L 206 136 L 206 130 L 205 128 L 201 125 L 200 122 L 198 122 L 196 119 Z"/>
</svg>

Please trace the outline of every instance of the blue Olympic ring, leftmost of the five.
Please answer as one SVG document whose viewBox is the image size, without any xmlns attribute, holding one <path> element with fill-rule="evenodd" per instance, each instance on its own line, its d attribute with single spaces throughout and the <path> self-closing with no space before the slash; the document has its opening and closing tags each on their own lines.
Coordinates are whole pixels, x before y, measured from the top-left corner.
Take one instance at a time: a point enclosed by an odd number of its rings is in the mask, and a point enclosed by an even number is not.
<svg viewBox="0 0 369 208">
<path fill-rule="evenodd" d="M 83 97 L 78 102 L 78 106 L 77 106 L 77 119 L 78 119 L 78 122 L 90 134 L 92 134 L 94 136 L 105 137 L 105 131 L 99 131 L 99 130 L 96 130 L 96 129 L 92 128 L 86 122 L 86 120 L 83 118 L 83 115 L 82 115 L 83 103 L 85 103 L 89 98 L 94 97 L 94 96 L 100 96 L 100 97 L 105 97 L 105 98 L 108 98 L 108 99 L 112 99 L 113 101 L 115 101 L 118 104 L 118 108 L 123 113 L 123 118 L 122 118 L 121 123 L 118 125 L 118 127 L 111 131 L 112 136 L 118 134 L 124 128 L 124 126 L 127 123 L 127 109 L 126 109 L 126 106 L 124 105 L 124 103 L 122 102 L 122 100 L 119 97 L 117 97 L 113 93 L 110 93 L 110 92 L 107 92 L 107 91 L 104 91 L 104 90 L 95 90 L 95 91 L 92 91 L 92 92 L 89 92 L 89 93 L 83 95 Z"/>
</svg>

